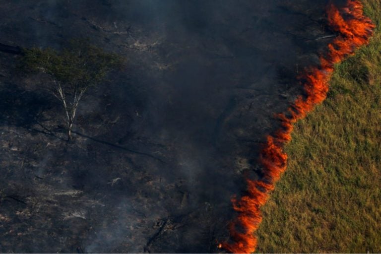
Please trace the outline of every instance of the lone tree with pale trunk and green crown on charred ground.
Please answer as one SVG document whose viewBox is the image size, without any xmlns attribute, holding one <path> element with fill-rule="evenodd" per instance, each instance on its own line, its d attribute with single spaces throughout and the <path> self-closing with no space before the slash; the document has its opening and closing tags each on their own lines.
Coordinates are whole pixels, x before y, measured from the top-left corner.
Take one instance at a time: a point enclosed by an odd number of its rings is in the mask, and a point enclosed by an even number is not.
<svg viewBox="0 0 381 254">
<path fill-rule="evenodd" d="M 50 91 L 64 106 L 68 140 L 80 100 L 91 86 L 104 82 L 107 74 L 122 65 L 114 53 L 91 45 L 88 40 L 71 40 L 61 52 L 54 49 L 25 49 L 23 63 L 27 70 L 42 72 L 52 78 Z"/>
</svg>

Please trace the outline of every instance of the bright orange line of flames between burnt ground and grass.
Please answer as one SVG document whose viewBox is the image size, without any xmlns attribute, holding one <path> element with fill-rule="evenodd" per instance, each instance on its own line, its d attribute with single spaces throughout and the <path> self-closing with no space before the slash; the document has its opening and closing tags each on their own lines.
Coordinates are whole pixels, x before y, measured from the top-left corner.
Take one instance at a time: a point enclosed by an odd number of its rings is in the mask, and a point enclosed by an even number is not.
<svg viewBox="0 0 381 254">
<path fill-rule="evenodd" d="M 348 0 L 340 9 L 332 3 L 328 5 L 328 24 L 338 36 L 328 45 L 327 53 L 320 56 L 320 66 L 310 67 L 304 74 L 305 96 L 299 96 L 289 107 L 287 114 L 280 114 L 282 128 L 273 135 L 267 136 L 260 153 L 263 165 L 261 180 L 246 179 L 247 192 L 241 198 L 233 198 L 233 208 L 238 212 L 237 218 L 230 224 L 231 243 L 222 243 L 220 247 L 231 253 L 253 253 L 257 239 L 254 235 L 262 216 L 260 206 L 268 199 L 269 192 L 286 170 L 287 154 L 283 146 L 291 140 L 293 124 L 304 118 L 321 103 L 328 92 L 328 81 L 333 73 L 334 64 L 347 56 L 353 55 L 360 46 L 366 45 L 373 34 L 375 25 L 364 15 L 360 0 Z"/>
</svg>

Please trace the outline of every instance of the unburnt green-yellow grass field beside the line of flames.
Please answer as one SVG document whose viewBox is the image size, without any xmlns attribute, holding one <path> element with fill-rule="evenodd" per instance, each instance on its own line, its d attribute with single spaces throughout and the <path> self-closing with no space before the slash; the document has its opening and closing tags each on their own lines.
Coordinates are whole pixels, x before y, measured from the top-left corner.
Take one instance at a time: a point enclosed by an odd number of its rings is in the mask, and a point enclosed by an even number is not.
<svg viewBox="0 0 381 254">
<path fill-rule="evenodd" d="M 381 253 L 381 0 L 363 2 L 375 35 L 295 126 L 288 169 L 262 207 L 258 252 Z"/>
</svg>

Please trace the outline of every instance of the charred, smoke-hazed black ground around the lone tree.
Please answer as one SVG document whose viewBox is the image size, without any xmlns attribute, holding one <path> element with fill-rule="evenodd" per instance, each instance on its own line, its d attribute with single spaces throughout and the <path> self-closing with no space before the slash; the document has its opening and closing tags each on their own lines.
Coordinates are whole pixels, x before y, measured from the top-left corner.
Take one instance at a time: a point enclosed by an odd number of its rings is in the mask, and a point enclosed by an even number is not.
<svg viewBox="0 0 381 254">
<path fill-rule="evenodd" d="M 231 197 L 334 34 L 327 0 L 0 0 L 0 252 L 214 253 Z M 13 47 L 89 37 L 127 59 L 64 140 Z"/>
</svg>

